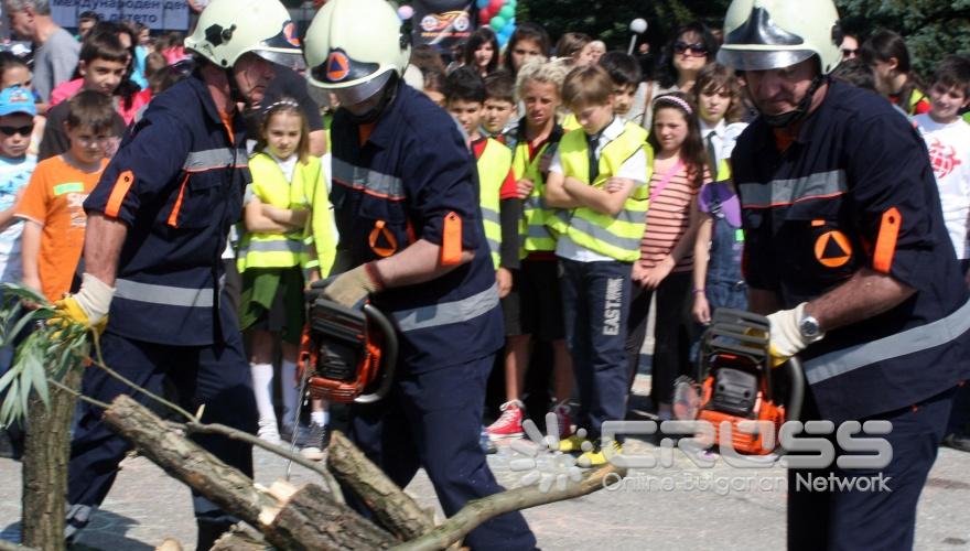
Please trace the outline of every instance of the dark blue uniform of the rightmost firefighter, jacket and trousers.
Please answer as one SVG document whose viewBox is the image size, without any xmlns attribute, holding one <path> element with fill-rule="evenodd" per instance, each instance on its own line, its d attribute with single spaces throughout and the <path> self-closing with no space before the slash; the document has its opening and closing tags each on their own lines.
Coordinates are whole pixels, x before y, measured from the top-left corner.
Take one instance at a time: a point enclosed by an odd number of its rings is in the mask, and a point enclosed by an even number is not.
<svg viewBox="0 0 970 551">
<path fill-rule="evenodd" d="M 833 83 L 786 150 L 755 120 L 732 160 L 753 289 L 791 309 L 867 267 L 916 290 L 800 355 L 804 418 L 893 423 L 881 469 L 892 493 L 795 491 L 793 472 L 788 507 L 789 549 L 910 549 L 952 389 L 970 367 L 970 304 L 923 140 L 888 102 Z"/>
</svg>

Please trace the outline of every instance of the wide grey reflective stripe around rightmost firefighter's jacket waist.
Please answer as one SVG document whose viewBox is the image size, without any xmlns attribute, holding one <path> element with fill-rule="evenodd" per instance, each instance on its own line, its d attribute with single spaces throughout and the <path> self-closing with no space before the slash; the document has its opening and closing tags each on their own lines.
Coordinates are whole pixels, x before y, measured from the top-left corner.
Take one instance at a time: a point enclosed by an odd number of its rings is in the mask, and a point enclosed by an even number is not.
<svg viewBox="0 0 970 551">
<path fill-rule="evenodd" d="M 815 385 L 877 361 L 928 350 L 970 331 L 970 301 L 952 314 L 926 325 L 876 341 L 830 352 L 805 363 L 805 377 Z"/>
</svg>

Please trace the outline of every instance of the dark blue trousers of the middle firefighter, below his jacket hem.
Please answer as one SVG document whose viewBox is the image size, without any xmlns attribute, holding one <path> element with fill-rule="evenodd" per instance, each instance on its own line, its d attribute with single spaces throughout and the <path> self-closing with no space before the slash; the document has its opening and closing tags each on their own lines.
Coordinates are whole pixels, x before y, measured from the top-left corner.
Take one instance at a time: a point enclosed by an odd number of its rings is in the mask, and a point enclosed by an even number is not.
<svg viewBox="0 0 970 551">
<path fill-rule="evenodd" d="M 399 372 L 387 398 L 353 406 L 351 437 L 401 488 L 423 466 L 449 517 L 472 499 L 502 491 L 478 445 L 493 364 L 494 356 L 487 356 L 421 374 Z M 511 512 L 472 530 L 465 545 L 531 550 L 536 538 L 522 515 Z"/>
</svg>

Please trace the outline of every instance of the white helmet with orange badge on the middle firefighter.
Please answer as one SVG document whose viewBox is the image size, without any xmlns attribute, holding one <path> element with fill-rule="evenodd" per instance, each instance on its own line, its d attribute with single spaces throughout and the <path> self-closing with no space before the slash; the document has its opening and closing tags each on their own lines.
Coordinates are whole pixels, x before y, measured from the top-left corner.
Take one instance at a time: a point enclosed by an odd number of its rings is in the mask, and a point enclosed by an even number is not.
<svg viewBox="0 0 970 551">
<path fill-rule="evenodd" d="M 330 0 L 313 18 L 304 41 L 314 86 L 342 90 L 348 104 L 364 101 L 401 76 L 410 36 L 387 0 Z"/>
</svg>

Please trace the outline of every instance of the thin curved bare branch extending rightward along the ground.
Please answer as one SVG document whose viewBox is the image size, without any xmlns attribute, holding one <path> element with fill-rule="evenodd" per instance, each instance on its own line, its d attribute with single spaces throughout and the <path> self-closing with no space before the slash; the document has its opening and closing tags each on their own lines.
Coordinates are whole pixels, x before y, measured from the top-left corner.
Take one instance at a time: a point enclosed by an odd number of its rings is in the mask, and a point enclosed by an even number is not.
<svg viewBox="0 0 970 551">
<path fill-rule="evenodd" d="M 439 525 L 434 530 L 421 538 L 402 543 L 394 548 L 392 551 L 445 549 L 491 518 L 505 515 L 506 512 L 528 509 L 537 505 L 585 496 L 604 486 L 616 484 L 624 476 L 626 476 L 625 467 L 607 465 L 590 473 L 579 483 L 569 484 L 562 490 L 550 488 L 548 491 L 541 491 L 537 485 L 532 485 L 494 494 L 482 499 L 474 499 L 465 504 L 462 510 Z"/>
</svg>

